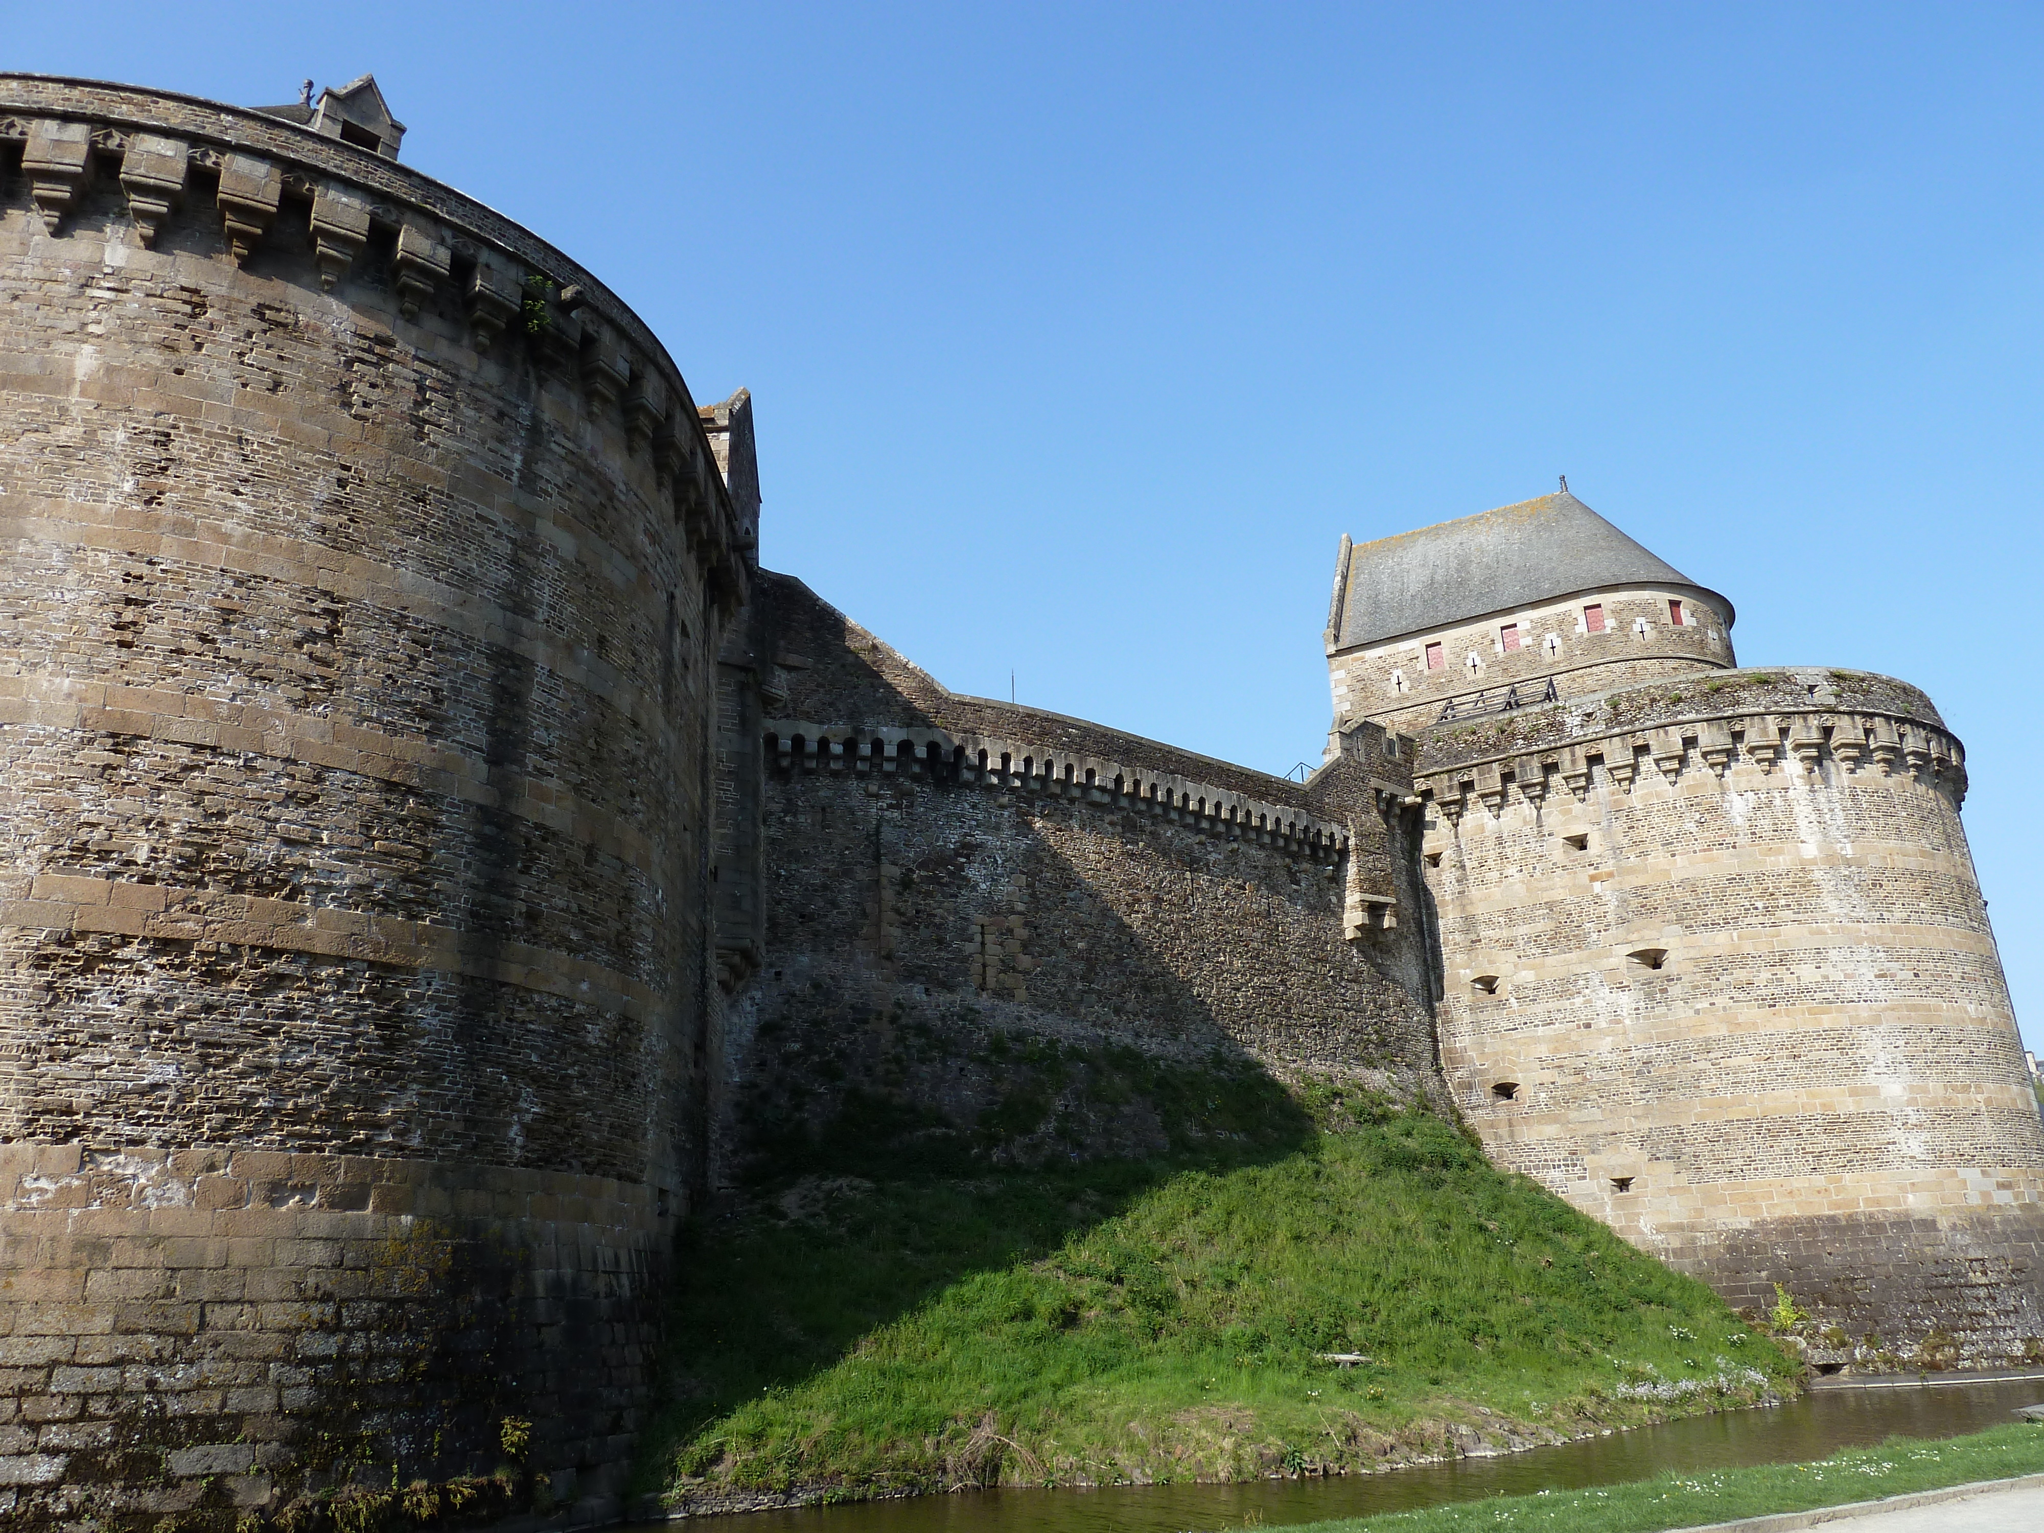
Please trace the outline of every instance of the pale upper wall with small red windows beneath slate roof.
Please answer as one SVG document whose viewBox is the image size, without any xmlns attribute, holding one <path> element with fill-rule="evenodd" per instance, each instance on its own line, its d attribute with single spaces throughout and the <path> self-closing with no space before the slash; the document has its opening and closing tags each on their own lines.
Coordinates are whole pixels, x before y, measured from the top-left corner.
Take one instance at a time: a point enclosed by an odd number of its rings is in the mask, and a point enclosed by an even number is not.
<svg viewBox="0 0 2044 1533">
<path fill-rule="evenodd" d="M 1668 603 L 1682 603 L 1682 623 Z M 1588 632 L 1584 609 L 1602 607 L 1605 630 Z M 1506 650 L 1504 623 L 1519 634 Z M 1441 668 L 1427 668 L 1427 646 L 1441 646 Z M 1562 697 L 1605 693 L 1637 681 L 1680 677 L 1737 664 L 1723 613 L 1688 587 L 1590 591 L 1568 601 L 1490 613 L 1474 623 L 1406 634 L 1388 644 L 1329 654 L 1337 728 L 1372 719 L 1386 730 L 1419 732 L 1453 701 L 1506 687 L 1537 697 L 1553 677 Z"/>
</svg>

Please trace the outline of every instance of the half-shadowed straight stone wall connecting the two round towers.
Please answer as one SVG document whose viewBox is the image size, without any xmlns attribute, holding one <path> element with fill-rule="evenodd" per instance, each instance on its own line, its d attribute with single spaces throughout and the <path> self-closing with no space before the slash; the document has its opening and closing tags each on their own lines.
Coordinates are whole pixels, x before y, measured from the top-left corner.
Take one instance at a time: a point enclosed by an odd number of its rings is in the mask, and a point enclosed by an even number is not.
<svg viewBox="0 0 2044 1533">
<path fill-rule="evenodd" d="M 944 693 L 785 576 L 760 576 L 750 644 L 795 717 L 760 740 L 764 967 L 726 1044 L 734 1175 L 748 1134 L 795 1120 L 791 1087 L 807 1132 L 858 1106 L 965 1149 L 1000 1118 L 1002 1155 L 1159 1149 L 1141 1102 L 1042 1096 L 1012 1120 L 995 1034 L 1425 1089 L 1431 1022 L 1396 963 L 1419 928 L 1386 926 L 1378 883 L 1410 861 L 1386 850 L 1410 830 L 1410 760 L 1380 730 L 1357 736 L 1351 791 L 1312 795 Z"/>
</svg>

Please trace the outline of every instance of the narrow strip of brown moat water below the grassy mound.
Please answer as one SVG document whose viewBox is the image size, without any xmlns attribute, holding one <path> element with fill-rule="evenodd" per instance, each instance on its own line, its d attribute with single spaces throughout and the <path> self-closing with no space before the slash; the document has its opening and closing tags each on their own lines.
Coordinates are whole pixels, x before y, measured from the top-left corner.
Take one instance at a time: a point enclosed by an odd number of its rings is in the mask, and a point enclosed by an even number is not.
<svg viewBox="0 0 2044 1533">
<path fill-rule="evenodd" d="M 1369 1517 L 1482 1496 L 1819 1459 L 1889 1437 L 1958 1437 L 2015 1421 L 2044 1380 L 1819 1390 L 1782 1406 L 1637 1427 L 1490 1459 L 1423 1464 L 1335 1480 L 1104 1490 L 973 1490 L 955 1496 L 638 1523 L 632 1533 L 1220 1533 L 1329 1517 Z"/>
</svg>

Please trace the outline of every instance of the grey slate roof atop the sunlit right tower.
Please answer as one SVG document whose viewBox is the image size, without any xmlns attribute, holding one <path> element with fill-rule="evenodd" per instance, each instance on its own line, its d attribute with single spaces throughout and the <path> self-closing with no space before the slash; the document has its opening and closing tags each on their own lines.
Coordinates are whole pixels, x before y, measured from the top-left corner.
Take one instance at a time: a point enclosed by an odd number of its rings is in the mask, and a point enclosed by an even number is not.
<svg viewBox="0 0 2044 1533">
<path fill-rule="evenodd" d="M 1690 589 L 1731 625 L 1731 603 L 1650 554 L 1568 491 L 1347 546 L 1335 572 L 1335 648 L 1531 607 L 1615 585 Z"/>
</svg>

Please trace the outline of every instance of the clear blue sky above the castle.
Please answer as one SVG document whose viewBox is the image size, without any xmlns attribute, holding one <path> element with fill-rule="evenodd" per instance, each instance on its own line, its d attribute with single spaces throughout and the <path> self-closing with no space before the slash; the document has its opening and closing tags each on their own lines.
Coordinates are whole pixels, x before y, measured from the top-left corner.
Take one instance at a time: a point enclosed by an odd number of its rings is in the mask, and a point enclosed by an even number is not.
<svg viewBox="0 0 2044 1533">
<path fill-rule="evenodd" d="M 950 687 L 1269 771 L 1335 544 L 1545 493 L 1925 687 L 2044 1044 L 2036 6 L 25 6 L 374 72 L 405 159 L 752 388 L 764 560 Z"/>
</svg>

